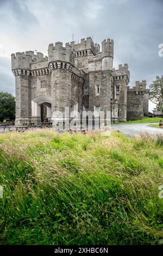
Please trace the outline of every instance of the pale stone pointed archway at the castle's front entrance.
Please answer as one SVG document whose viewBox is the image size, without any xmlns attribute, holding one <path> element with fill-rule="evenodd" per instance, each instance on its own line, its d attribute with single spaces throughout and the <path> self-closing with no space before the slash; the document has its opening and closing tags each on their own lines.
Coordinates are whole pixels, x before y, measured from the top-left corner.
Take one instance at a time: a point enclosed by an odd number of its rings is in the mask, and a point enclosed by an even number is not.
<svg viewBox="0 0 163 256">
<path fill-rule="evenodd" d="M 41 121 L 51 121 L 52 117 L 52 99 L 49 96 L 39 95 L 32 99 L 32 121 L 36 125 L 41 125 Z M 41 120 L 42 118 L 42 120 Z"/>
</svg>

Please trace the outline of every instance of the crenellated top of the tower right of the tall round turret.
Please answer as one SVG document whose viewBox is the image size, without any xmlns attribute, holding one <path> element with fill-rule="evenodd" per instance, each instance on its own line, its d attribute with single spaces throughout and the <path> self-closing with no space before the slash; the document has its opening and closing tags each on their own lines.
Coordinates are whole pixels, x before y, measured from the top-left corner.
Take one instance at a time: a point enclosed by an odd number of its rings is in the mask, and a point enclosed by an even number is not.
<svg viewBox="0 0 163 256">
<path fill-rule="evenodd" d="M 112 69 L 112 76 L 114 77 L 114 81 L 126 80 L 127 84 L 130 80 L 130 71 L 128 70 L 128 64 L 119 65 L 119 69 Z"/>
</svg>

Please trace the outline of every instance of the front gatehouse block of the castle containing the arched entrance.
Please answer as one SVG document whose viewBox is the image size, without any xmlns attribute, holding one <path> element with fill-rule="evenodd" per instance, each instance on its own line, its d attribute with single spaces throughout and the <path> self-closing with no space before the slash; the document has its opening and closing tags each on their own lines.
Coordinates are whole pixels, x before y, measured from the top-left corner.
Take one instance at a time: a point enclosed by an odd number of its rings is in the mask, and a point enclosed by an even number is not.
<svg viewBox="0 0 163 256">
<path fill-rule="evenodd" d="M 33 51 L 11 55 L 16 80 L 15 125 L 41 125 L 47 118 L 51 121 L 57 111 L 64 118 L 65 107 L 82 109 L 85 74 L 74 67 L 74 55 L 71 45 L 63 47 L 62 42 L 49 45 L 48 57 Z"/>
</svg>

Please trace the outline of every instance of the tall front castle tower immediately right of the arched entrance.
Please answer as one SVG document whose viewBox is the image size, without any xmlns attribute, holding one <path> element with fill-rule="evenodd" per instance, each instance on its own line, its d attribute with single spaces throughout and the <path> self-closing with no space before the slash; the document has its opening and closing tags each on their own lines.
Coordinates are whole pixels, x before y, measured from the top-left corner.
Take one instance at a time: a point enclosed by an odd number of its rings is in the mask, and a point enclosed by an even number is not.
<svg viewBox="0 0 163 256">
<path fill-rule="evenodd" d="M 71 76 L 74 68 L 74 50 L 70 44 L 63 47 L 62 42 L 48 47 L 48 66 L 52 81 L 52 113 L 64 113 L 71 107 Z"/>
</svg>

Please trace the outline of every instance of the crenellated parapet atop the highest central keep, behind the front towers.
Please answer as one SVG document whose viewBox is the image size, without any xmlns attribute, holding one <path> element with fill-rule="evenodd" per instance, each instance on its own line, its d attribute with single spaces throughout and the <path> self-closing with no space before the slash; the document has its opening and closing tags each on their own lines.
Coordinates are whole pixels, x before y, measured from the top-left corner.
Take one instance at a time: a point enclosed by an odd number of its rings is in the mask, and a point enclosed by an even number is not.
<svg viewBox="0 0 163 256">
<path fill-rule="evenodd" d="M 96 54 L 94 42 L 89 36 L 88 38 L 83 38 L 80 40 L 80 43 L 76 44 L 76 41 L 72 41 L 71 46 L 74 48 L 76 52 L 84 51 L 84 50 L 91 50 L 93 54 Z"/>
</svg>

